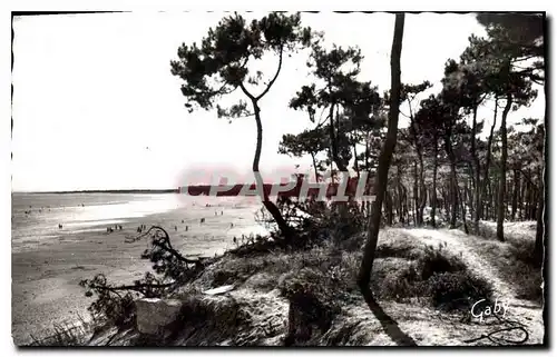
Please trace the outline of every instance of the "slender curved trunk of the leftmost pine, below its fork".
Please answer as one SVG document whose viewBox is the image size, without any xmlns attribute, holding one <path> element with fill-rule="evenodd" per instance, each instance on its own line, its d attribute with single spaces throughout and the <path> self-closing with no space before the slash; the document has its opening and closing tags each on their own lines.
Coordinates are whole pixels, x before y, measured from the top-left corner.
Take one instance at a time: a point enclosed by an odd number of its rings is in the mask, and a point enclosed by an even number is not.
<svg viewBox="0 0 557 357">
<path fill-rule="evenodd" d="M 263 197 L 263 206 L 266 208 L 266 210 L 271 214 L 273 219 L 275 220 L 276 225 L 278 226 L 278 229 L 284 236 L 284 240 L 286 242 L 292 242 L 294 239 L 294 231 L 293 229 L 289 226 L 286 220 L 282 217 L 281 211 L 276 207 L 273 201 L 268 199 L 268 192 L 265 190 L 265 187 L 263 186 L 263 178 L 261 177 L 260 173 L 260 159 L 261 159 L 261 148 L 263 143 L 263 126 L 261 123 L 261 109 L 260 106 L 257 105 L 256 100 L 252 101 L 253 108 L 254 108 L 254 113 L 255 113 L 255 122 L 257 125 L 257 145 L 255 147 L 255 156 L 253 158 L 253 166 L 252 170 L 255 176 L 255 181 L 257 187 L 261 189 Z"/>
</svg>

